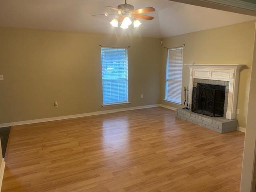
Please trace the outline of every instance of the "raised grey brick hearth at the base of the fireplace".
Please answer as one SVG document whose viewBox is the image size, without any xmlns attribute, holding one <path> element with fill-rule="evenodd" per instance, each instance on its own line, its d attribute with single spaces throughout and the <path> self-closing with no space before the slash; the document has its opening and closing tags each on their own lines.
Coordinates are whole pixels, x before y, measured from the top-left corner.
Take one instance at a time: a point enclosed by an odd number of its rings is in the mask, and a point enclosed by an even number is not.
<svg viewBox="0 0 256 192">
<path fill-rule="evenodd" d="M 224 117 L 209 117 L 191 112 L 188 109 L 176 109 L 176 117 L 218 133 L 235 131 L 237 128 L 236 119 L 229 120 Z"/>
</svg>

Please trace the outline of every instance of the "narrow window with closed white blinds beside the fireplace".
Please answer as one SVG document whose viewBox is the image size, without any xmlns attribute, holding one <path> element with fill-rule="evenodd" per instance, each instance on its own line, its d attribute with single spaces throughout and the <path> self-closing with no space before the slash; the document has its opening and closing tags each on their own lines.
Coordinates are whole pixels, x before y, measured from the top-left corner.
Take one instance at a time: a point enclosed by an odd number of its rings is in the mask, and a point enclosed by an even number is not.
<svg viewBox="0 0 256 192">
<path fill-rule="evenodd" d="M 165 100 L 181 104 L 183 47 L 168 49 Z"/>
</svg>

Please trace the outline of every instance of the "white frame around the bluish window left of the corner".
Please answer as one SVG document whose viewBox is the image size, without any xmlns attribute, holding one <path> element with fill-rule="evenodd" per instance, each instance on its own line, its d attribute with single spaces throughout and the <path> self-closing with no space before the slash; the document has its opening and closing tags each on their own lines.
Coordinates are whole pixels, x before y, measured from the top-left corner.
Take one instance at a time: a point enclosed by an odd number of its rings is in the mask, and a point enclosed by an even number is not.
<svg viewBox="0 0 256 192">
<path fill-rule="evenodd" d="M 102 48 L 108 48 L 108 49 L 125 49 L 126 50 L 126 102 L 113 102 L 113 103 L 106 103 L 104 104 L 104 96 L 103 96 L 103 78 L 102 78 Z M 109 47 L 109 46 L 101 46 L 100 47 L 100 65 L 101 65 L 101 81 L 102 81 L 102 107 L 106 106 L 117 106 L 117 105 L 126 105 L 130 104 L 129 102 L 129 79 L 128 79 L 128 48 L 127 47 Z"/>
</svg>

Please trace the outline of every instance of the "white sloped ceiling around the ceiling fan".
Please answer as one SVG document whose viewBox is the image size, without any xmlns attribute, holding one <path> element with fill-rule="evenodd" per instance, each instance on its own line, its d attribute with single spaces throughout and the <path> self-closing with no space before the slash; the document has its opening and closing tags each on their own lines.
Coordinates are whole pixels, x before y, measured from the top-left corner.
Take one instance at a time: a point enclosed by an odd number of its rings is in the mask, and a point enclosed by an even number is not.
<svg viewBox="0 0 256 192">
<path fill-rule="evenodd" d="M 117 7 L 124 0 L 0 0 L 0 26 L 103 34 L 168 37 L 254 20 L 232 12 L 203 8 L 169 0 L 127 0 L 135 9 L 152 6 L 151 21 L 139 28 L 113 28 L 114 16 L 92 16 Z M 112 12 L 114 13 L 114 12 Z"/>
</svg>

